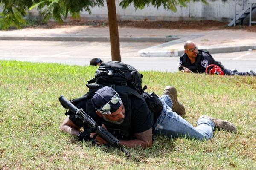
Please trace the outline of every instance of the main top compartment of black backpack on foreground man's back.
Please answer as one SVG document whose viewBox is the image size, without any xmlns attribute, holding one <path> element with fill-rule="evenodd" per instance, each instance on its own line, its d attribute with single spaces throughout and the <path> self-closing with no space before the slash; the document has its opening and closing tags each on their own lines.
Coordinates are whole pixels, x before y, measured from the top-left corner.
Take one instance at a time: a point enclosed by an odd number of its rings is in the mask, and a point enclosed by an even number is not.
<svg viewBox="0 0 256 170">
<path fill-rule="evenodd" d="M 108 61 L 101 63 L 96 69 L 95 78 L 88 81 L 88 83 L 104 84 L 105 86 L 130 86 L 137 92 L 142 92 L 147 89 L 147 86 L 142 88 L 143 75 L 140 74 L 133 66 L 121 63 L 118 61 Z"/>
</svg>

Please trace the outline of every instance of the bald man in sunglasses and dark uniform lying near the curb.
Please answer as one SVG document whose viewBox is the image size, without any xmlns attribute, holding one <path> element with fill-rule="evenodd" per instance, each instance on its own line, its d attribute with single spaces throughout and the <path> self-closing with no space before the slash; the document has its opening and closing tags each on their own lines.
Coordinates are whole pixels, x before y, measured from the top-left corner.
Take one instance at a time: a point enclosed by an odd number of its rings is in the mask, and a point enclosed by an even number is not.
<svg viewBox="0 0 256 170">
<path fill-rule="evenodd" d="M 220 66 L 224 75 L 251 75 L 256 76 L 253 70 L 248 72 L 238 72 L 237 70 L 226 69 L 221 62 L 215 61 L 209 52 L 198 50 L 196 44 L 192 41 L 187 41 L 184 44 L 185 52 L 180 56 L 179 71 L 188 73 L 205 73 L 205 69 L 210 64 Z"/>
</svg>

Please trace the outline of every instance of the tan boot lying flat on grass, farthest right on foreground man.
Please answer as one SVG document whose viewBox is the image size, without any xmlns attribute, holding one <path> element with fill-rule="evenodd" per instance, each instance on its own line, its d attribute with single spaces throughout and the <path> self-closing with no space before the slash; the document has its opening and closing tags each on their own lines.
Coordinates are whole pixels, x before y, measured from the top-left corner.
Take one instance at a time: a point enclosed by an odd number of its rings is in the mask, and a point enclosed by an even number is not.
<svg viewBox="0 0 256 170">
<path fill-rule="evenodd" d="M 231 123 L 229 121 L 224 121 L 224 120 L 221 120 L 221 119 L 212 118 L 212 117 L 207 116 L 207 115 L 202 115 L 200 118 L 209 118 L 209 119 L 211 119 L 213 121 L 213 123 L 215 124 L 215 128 L 219 128 L 221 130 L 226 130 L 228 132 L 237 133 L 236 127 L 233 125 L 233 123 Z"/>
</svg>

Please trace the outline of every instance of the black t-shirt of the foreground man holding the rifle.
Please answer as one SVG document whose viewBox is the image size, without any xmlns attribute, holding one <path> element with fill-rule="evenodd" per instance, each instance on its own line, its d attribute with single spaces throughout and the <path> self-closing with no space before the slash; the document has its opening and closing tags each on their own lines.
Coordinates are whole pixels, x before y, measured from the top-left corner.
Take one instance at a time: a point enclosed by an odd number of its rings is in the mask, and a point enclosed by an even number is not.
<svg viewBox="0 0 256 170">
<path fill-rule="evenodd" d="M 94 108 L 92 108 L 90 111 L 88 110 L 87 114 L 91 118 L 93 118 L 98 125 L 102 125 L 102 123 L 104 123 L 108 131 L 112 133 L 116 138 L 126 139 L 126 140 L 133 139 L 135 133 L 144 132 L 153 126 L 154 115 L 151 113 L 146 102 L 143 101 L 142 99 L 137 98 L 134 95 L 130 95 L 130 102 L 131 102 L 130 106 L 124 103 L 125 119 L 121 125 L 117 125 L 117 124 L 113 124 L 105 121 L 103 118 L 96 115 Z M 84 103 L 80 107 L 77 105 L 76 106 L 78 108 L 83 108 L 84 110 L 86 110 L 85 105 L 86 104 Z M 128 107 L 131 107 L 131 108 L 128 108 Z M 131 112 L 129 112 L 129 110 L 131 110 Z M 70 115 L 69 116 L 70 120 L 74 124 L 76 124 L 76 126 L 84 127 L 81 119 L 75 118 L 75 115 L 71 112 L 69 112 L 69 115 Z"/>
</svg>

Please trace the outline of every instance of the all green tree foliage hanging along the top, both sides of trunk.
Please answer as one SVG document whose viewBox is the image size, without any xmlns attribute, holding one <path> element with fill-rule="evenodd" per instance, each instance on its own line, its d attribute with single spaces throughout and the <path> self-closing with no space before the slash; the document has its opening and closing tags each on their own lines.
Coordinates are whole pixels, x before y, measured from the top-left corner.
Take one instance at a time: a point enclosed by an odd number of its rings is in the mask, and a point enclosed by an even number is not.
<svg viewBox="0 0 256 170">
<path fill-rule="evenodd" d="M 186 6 L 190 0 L 122 0 L 120 6 L 127 8 L 131 4 L 136 9 L 143 9 L 150 4 L 157 7 L 163 6 L 166 10 L 177 11 L 176 6 Z M 205 0 L 202 0 L 205 2 Z M 44 21 L 51 18 L 63 22 L 68 14 L 79 18 L 80 12 L 87 11 L 91 13 L 90 8 L 95 6 L 104 6 L 104 0 L 0 0 L 3 4 L 2 18 L 0 19 L 0 29 L 8 29 L 13 26 L 20 28 L 24 23 L 23 17 L 28 10 L 37 8 L 44 17 Z"/>
</svg>

